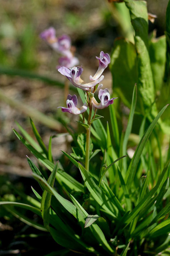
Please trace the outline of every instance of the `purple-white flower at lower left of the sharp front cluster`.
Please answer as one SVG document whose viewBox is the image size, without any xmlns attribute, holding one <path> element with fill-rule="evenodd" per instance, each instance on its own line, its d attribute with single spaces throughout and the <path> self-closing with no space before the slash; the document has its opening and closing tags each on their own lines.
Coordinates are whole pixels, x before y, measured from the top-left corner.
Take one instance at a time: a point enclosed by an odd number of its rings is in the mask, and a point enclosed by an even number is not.
<svg viewBox="0 0 170 256">
<path fill-rule="evenodd" d="M 74 115 L 79 115 L 84 113 L 87 110 L 87 104 L 84 103 L 84 105 L 81 108 L 77 108 L 77 96 L 76 95 L 70 95 L 68 94 L 67 100 L 66 100 L 67 108 L 58 107 L 61 108 L 62 112 L 69 112 Z"/>
</svg>

